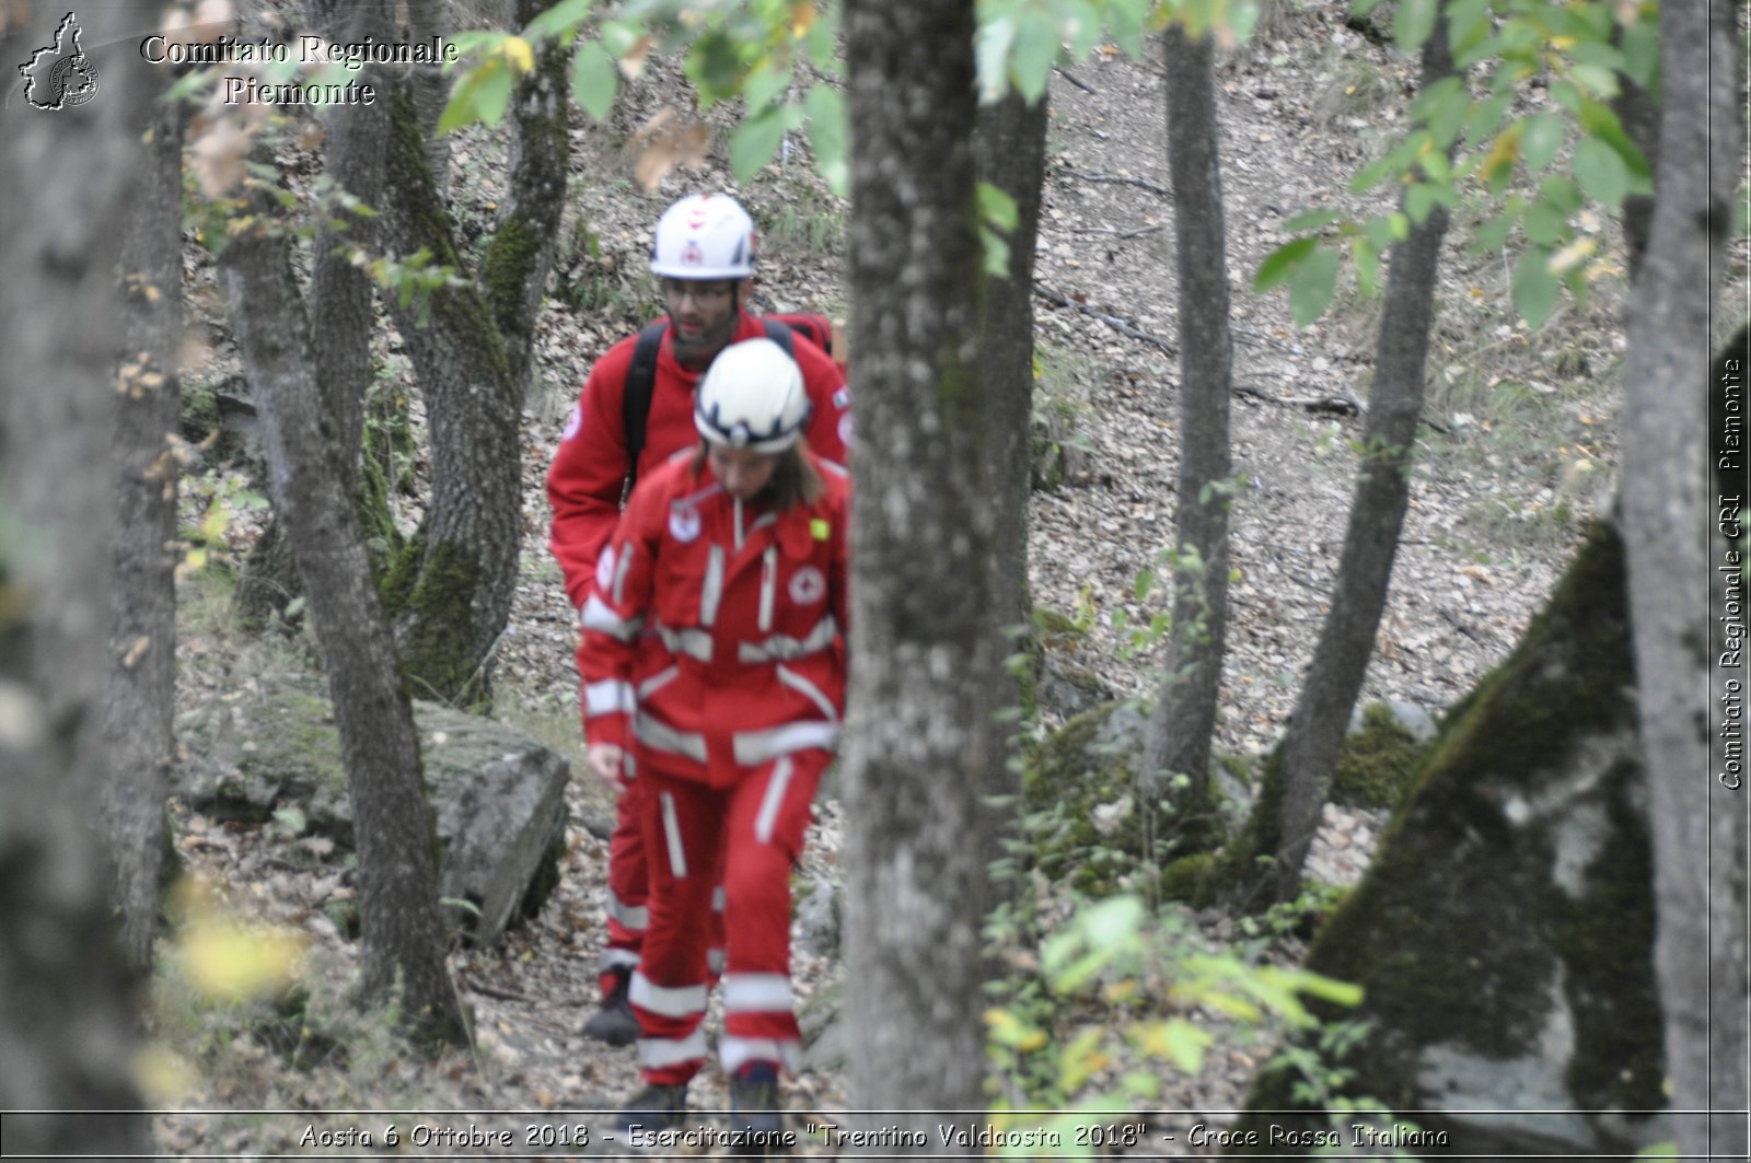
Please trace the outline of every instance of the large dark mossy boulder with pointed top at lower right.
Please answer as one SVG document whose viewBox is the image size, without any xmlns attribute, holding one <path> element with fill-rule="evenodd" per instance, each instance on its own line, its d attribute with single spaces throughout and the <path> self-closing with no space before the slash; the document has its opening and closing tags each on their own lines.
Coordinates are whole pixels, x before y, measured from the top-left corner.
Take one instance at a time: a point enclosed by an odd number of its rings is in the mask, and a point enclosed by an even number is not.
<svg viewBox="0 0 1751 1163">
<path fill-rule="evenodd" d="M 1359 1012 L 1327 1014 L 1371 1023 L 1334 1063 L 1345 1093 L 1418 1112 L 1425 1137 L 1404 1145 L 1425 1158 L 1623 1158 L 1669 1138 L 1663 1117 L 1632 1114 L 1665 1096 L 1614 532 L 1588 539 L 1436 748 L 1308 955 L 1364 990 Z M 1266 1075 L 1241 1130 L 1329 1130 L 1273 1114 L 1299 1105 L 1292 1077 Z"/>
</svg>

